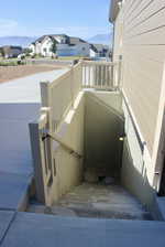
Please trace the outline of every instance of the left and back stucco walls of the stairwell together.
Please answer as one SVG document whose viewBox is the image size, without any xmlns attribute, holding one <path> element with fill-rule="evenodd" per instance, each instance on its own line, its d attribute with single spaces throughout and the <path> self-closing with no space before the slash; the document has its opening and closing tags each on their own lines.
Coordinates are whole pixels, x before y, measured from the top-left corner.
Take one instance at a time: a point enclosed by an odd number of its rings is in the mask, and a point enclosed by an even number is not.
<svg viewBox="0 0 165 247">
<path fill-rule="evenodd" d="M 54 141 L 56 176 L 51 197 L 57 201 L 81 183 L 85 168 L 97 168 L 106 175 L 119 176 L 121 167 L 123 117 L 119 93 L 80 93 L 61 125 L 57 136 L 84 159 L 69 154 Z M 109 108 L 110 107 L 110 108 Z"/>
</svg>

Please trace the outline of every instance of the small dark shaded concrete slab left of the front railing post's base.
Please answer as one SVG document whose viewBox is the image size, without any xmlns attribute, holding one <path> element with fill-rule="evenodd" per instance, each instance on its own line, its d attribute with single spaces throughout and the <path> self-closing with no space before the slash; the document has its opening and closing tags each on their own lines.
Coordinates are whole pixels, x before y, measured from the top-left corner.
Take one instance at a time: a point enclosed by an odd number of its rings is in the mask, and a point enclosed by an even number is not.
<svg viewBox="0 0 165 247">
<path fill-rule="evenodd" d="M 0 210 L 24 210 L 31 176 L 0 172 Z"/>
</svg>

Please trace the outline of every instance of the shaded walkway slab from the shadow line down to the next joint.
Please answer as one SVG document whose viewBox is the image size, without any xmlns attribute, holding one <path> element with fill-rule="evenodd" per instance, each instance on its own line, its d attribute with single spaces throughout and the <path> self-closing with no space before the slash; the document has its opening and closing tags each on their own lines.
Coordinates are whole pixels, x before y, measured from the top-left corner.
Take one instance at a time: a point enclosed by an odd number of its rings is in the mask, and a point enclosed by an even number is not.
<svg viewBox="0 0 165 247">
<path fill-rule="evenodd" d="M 0 171 L 31 174 L 29 122 L 37 118 L 40 104 L 0 104 Z"/>
</svg>

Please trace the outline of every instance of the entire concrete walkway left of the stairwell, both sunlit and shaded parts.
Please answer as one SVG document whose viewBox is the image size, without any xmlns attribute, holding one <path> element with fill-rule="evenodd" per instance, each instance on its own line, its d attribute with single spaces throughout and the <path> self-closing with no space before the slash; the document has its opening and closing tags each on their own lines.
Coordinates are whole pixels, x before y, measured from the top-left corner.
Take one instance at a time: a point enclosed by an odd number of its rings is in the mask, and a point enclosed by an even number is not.
<svg viewBox="0 0 165 247">
<path fill-rule="evenodd" d="M 40 82 L 66 69 L 0 84 L 0 210 L 23 210 L 33 178 L 29 122 L 37 118 Z"/>
</svg>

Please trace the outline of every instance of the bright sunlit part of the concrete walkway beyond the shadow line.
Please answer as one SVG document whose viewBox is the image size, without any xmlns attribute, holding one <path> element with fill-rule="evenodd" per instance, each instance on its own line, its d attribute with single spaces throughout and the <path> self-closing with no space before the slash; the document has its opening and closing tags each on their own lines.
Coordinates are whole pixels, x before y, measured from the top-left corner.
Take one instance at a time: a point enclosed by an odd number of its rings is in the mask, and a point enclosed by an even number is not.
<svg viewBox="0 0 165 247">
<path fill-rule="evenodd" d="M 0 84 L 0 103 L 40 103 L 40 82 L 53 82 L 65 69 L 38 73 Z"/>
</svg>

